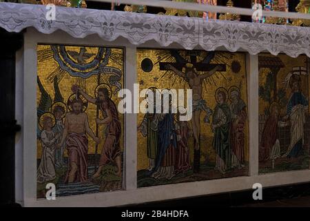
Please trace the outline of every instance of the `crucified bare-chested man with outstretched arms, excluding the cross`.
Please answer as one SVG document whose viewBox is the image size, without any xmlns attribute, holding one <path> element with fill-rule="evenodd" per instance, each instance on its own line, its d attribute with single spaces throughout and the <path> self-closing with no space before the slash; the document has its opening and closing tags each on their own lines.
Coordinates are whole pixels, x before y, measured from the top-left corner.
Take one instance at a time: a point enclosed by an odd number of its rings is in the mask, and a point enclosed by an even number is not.
<svg viewBox="0 0 310 221">
<path fill-rule="evenodd" d="M 212 114 L 211 108 L 207 106 L 205 99 L 203 99 L 203 80 L 207 77 L 213 75 L 217 70 L 222 70 L 221 66 L 216 66 L 213 70 L 205 73 L 203 75 L 198 75 L 194 68 L 185 68 L 185 73 L 174 68 L 171 64 L 167 65 L 167 69 L 172 70 L 178 76 L 183 77 L 189 88 L 192 89 L 193 92 L 193 117 L 192 117 L 192 128 L 193 135 L 195 140 L 194 148 L 196 150 L 199 149 L 199 135 L 200 135 L 200 113 L 201 111 L 205 111 L 207 115 L 205 116 L 205 122 L 209 122 L 209 117 Z"/>
</svg>

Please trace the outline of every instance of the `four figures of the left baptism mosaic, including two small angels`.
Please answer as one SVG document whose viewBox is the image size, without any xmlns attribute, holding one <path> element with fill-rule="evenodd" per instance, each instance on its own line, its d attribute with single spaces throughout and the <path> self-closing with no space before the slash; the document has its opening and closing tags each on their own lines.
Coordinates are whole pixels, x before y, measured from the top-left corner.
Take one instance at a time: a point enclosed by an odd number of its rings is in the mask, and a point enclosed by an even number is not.
<svg viewBox="0 0 310 221">
<path fill-rule="evenodd" d="M 92 137 L 96 144 L 99 144 L 101 140 L 94 135 L 89 126 L 88 116 L 85 113 L 88 103 L 95 104 L 104 117 L 103 119 L 97 118 L 96 124 L 105 125 L 99 168 L 92 178 L 99 177 L 103 166 L 110 162 L 116 164 L 116 175 L 121 176 L 121 122 L 118 119 L 116 105 L 109 97 L 109 90 L 104 87 L 98 88 L 96 98 L 91 97 L 76 85 L 72 86 L 72 92 L 67 105 L 57 102 L 52 105 L 51 113 L 43 113 L 39 119 L 42 155 L 37 169 L 37 181 L 42 183 L 55 179 L 55 167 L 57 169 L 64 166 L 65 149 L 68 153 L 68 167 L 64 182 L 90 181 L 87 164 L 87 135 Z M 67 106 L 68 113 L 66 113 Z"/>
</svg>

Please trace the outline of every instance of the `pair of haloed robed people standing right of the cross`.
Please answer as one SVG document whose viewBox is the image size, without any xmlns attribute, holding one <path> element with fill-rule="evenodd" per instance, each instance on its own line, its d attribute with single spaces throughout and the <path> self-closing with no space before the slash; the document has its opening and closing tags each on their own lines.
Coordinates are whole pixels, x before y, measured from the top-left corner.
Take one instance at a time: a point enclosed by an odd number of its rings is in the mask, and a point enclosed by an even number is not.
<svg viewBox="0 0 310 221">
<path fill-rule="evenodd" d="M 236 86 L 231 86 L 228 92 L 225 88 L 216 90 L 217 105 L 211 122 L 214 132 L 212 146 L 216 151 L 215 169 L 223 174 L 245 166 L 247 106 L 240 96 Z M 230 104 L 227 104 L 228 98 Z"/>
</svg>

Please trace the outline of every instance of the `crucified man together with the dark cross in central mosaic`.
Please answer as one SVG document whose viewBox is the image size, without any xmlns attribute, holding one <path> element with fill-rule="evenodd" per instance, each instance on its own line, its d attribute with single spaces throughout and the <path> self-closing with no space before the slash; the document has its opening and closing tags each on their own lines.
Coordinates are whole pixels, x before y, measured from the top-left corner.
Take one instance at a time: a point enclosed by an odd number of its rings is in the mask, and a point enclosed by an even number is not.
<svg viewBox="0 0 310 221">
<path fill-rule="evenodd" d="M 205 111 L 207 115 L 205 116 L 204 122 L 209 122 L 209 117 L 212 114 L 211 108 L 207 106 L 207 102 L 203 99 L 203 81 L 214 75 L 216 71 L 225 71 L 225 64 L 185 64 L 183 70 L 178 70 L 179 66 L 184 66 L 184 64 L 173 64 L 173 63 L 162 63 L 161 70 L 172 70 L 176 75 L 183 77 L 189 88 L 193 92 L 193 115 L 192 115 L 192 130 L 194 135 L 194 173 L 198 173 L 200 169 L 200 113 Z M 178 66 L 176 68 L 175 66 Z M 198 70 L 203 70 L 205 73 L 199 75 L 196 72 Z M 206 71 L 207 70 L 207 71 Z"/>
</svg>

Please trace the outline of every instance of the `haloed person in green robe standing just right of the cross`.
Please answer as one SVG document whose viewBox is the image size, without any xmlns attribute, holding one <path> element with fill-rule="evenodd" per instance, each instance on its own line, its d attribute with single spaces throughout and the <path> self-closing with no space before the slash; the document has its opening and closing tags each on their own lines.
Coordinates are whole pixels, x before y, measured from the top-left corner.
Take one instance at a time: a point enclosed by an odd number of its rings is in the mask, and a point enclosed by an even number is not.
<svg viewBox="0 0 310 221">
<path fill-rule="evenodd" d="M 231 147 L 229 143 L 229 128 L 231 124 L 231 113 L 227 104 L 227 90 L 218 88 L 216 90 L 216 108 L 214 109 L 211 128 L 214 132 L 212 146 L 216 151 L 215 170 L 225 174 L 231 166 Z"/>
</svg>

